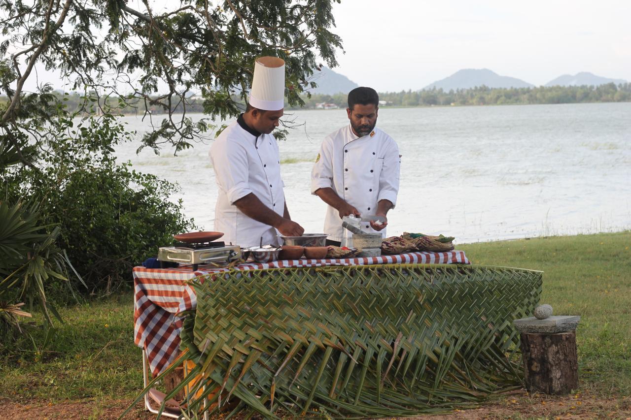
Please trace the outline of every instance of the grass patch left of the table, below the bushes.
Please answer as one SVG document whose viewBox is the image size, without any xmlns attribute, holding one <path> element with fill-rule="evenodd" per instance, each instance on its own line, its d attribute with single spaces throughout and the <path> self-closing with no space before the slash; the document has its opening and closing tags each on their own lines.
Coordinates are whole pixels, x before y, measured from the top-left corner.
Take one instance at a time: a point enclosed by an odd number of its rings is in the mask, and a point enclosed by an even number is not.
<svg viewBox="0 0 631 420">
<path fill-rule="evenodd" d="M 0 358 L 0 398 L 56 402 L 138 395 L 142 359 L 133 340 L 131 291 L 60 313 L 65 322 L 56 325 L 57 334 L 40 354 L 23 339 L 15 352 Z M 33 335 L 42 342 L 40 330 Z"/>
</svg>

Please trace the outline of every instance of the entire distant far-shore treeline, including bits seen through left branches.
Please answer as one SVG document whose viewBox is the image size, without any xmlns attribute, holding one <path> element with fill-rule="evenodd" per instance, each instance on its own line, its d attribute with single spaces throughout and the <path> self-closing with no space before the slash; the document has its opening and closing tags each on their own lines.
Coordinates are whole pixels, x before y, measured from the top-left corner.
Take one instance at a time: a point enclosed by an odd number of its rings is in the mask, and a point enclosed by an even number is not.
<svg viewBox="0 0 631 420">
<path fill-rule="evenodd" d="M 78 94 L 64 95 L 55 92 L 54 95 L 64 96 L 64 102 L 69 110 L 76 110 L 85 104 L 85 98 Z M 346 108 L 346 93 L 336 95 L 304 95 L 304 108 Z M 237 98 L 235 98 L 237 100 Z M 615 85 L 608 83 L 600 86 L 550 86 L 538 88 L 488 88 L 480 86 L 473 89 L 458 89 L 444 91 L 442 89 L 400 91 L 379 93 L 380 107 L 430 107 L 436 105 L 512 105 L 530 103 L 586 103 L 586 102 L 631 102 L 631 83 Z M 6 102 L 6 97 L 0 97 L 0 102 Z M 90 102 L 90 112 L 98 113 L 103 106 L 102 100 Z M 186 105 L 187 112 L 204 112 L 203 99 L 191 98 Z M 117 98 L 106 100 L 109 107 L 117 108 L 120 102 Z M 114 114 L 144 114 L 145 107 L 151 114 L 163 114 L 160 105 L 149 102 L 126 103 L 124 108 L 113 110 Z M 286 109 L 300 109 L 289 107 Z"/>
</svg>

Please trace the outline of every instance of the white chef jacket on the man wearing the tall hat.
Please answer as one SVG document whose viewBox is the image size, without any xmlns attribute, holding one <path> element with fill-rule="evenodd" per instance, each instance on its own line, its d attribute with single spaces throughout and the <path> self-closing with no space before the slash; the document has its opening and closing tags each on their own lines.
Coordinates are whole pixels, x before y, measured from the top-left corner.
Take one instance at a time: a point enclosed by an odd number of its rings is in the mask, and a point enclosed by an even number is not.
<svg viewBox="0 0 631 420">
<path fill-rule="evenodd" d="M 228 125 L 209 152 L 219 187 L 215 207 L 215 230 L 223 232 L 225 243 L 251 247 L 278 245 L 278 231 L 245 216 L 233 203 L 254 193 L 259 200 L 283 216 L 285 194 L 280 176 L 278 144 L 271 134 L 254 136 L 237 121 Z"/>
</svg>

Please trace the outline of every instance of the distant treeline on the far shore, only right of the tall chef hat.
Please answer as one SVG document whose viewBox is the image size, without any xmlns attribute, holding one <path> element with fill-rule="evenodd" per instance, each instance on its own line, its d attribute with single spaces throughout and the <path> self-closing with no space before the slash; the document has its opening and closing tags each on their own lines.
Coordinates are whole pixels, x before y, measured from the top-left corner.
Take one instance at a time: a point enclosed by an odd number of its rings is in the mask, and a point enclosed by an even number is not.
<svg viewBox="0 0 631 420">
<path fill-rule="evenodd" d="M 323 103 L 345 108 L 346 94 L 312 95 L 305 108 Z M 631 83 L 601 86 L 550 86 L 538 88 L 488 88 L 444 91 L 442 89 L 379 93 L 381 107 L 427 107 L 432 105 L 508 105 L 529 103 L 631 102 Z"/>
</svg>

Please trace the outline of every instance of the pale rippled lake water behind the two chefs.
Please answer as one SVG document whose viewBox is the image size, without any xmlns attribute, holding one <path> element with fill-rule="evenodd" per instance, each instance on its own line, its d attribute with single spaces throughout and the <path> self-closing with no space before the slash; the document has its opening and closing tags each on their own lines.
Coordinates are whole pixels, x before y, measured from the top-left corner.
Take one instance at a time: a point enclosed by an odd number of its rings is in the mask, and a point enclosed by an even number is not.
<svg viewBox="0 0 631 420">
<path fill-rule="evenodd" d="M 324 136 L 348 124 L 346 111 L 286 116 L 304 124 L 279 142 L 288 208 L 306 232 L 319 233 L 326 204 L 309 192 L 310 171 Z M 140 117 L 122 120 L 138 136 L 149 127 Z M 631 103 L 382 108 L 377 127 L 403 155 L 388 235 L 443 233 L 466 243 L 631 228 Z M 218 192 L 210 143 L 178 156 L 136 155 L 139 143 L 127 143 L 117 156 L 179 183 L 171 198 L 212 230 Z"/>
</svg>

